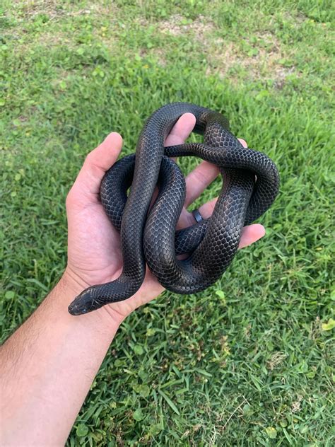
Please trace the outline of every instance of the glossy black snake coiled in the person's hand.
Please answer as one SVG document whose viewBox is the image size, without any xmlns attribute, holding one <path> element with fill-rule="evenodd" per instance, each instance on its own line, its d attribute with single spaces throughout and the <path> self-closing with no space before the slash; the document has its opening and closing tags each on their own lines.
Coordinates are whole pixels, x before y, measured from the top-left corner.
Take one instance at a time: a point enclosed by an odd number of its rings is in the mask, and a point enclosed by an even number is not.
<svg viewBox="0 0 335 447">
<path fill-rule="evenodd" d="M 193 132 L 203 135 L 204 142 L 165 147 L 172 127 L 187 112 L 196 117 Z M 211 217 L 176 231 L 186 183 L 174 158 L 185 156 L 218 166 L 222 188 Z M 192 103 L 163 105 L 144 124 L 136 152 L 114 163 L 100 185 L 102 206 L 120 233 L 122 273 L 83 290 L 69 313 L 81 315 L 130 298 L 143 284 L 146 266 L 169 291 L 204 291 L 232 262 L 243 226 L 269 209 L 278 188 L 274 161 L 242 146 L 220 112 Z"/>
</svg>

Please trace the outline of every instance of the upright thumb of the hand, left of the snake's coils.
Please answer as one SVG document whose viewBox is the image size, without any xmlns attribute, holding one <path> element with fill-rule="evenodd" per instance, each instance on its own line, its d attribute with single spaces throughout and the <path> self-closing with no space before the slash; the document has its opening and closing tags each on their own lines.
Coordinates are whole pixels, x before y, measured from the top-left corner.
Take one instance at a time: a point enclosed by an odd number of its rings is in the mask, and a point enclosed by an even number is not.
<svg viewBox="0 0 335 447">
<path fill-rule="evenodd" d="M 122 137 L 117 132 L 108 135 L 105 141 L 88 153 L 72 190 L 83 194 L 98 195 L 105 172 L 117 161 L 122 148 Z"/>
</svg>

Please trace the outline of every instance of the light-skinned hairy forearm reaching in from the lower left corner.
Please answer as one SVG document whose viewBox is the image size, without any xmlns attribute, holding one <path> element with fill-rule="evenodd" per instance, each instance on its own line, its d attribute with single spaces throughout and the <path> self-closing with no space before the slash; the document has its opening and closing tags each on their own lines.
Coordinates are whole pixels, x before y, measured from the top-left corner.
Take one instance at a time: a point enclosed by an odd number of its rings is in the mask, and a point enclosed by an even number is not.
<svg viewBox="0 0 335 447">
<path fill-rule="evenodd" d="M 64 445 L 119 327 L 101 309 L 73 317 L 66 275 L 0 350 L 1 446 Z"/>
</svg>

